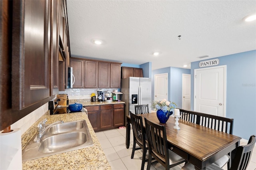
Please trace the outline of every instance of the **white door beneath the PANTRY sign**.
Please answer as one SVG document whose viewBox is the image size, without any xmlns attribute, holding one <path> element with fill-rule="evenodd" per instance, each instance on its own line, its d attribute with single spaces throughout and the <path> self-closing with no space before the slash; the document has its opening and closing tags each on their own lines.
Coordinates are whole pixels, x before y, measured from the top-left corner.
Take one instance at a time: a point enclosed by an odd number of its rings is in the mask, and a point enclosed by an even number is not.
<svg viewBox="0 0 256 170">
<path fill-rule="evenodd" d="M 226 65 L 195 69 L 194 111 L 226 117 Z"/>
</svg>

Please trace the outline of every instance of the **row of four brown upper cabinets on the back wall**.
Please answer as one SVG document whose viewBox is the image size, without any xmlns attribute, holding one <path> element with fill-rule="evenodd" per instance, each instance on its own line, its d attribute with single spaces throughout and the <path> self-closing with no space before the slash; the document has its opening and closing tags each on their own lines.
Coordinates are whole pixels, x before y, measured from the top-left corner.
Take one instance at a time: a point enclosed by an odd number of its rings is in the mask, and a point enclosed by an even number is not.
<svg viewBox="0 0 256 170">
<path fill-rule="evenodd" d="M 121 63 L 71 57 L 70 67 L 73 88 L 120 88 Z"/>
</svg>

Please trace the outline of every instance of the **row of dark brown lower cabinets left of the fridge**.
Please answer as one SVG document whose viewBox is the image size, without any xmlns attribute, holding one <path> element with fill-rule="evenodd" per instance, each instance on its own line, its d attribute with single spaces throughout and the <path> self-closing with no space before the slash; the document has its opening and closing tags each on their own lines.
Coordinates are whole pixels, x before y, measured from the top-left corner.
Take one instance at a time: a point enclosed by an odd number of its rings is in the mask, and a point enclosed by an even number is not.
<svg viewBox="0 0 256 170">
<path fill-rule="evenodd" d="M 124 104 L 86 106 L 95 132 L 124 126 Z"/>
</svg>

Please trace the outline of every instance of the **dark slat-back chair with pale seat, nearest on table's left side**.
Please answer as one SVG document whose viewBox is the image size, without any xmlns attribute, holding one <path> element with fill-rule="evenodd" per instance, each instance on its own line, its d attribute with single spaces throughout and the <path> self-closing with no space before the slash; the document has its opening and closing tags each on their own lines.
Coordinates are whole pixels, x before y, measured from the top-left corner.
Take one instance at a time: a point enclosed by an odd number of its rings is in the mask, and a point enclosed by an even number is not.
<svg viewBox="0 0 256 170">
<path fill-rule="evenodd" d="M 144 120 L 148 136 L 147 170 L 150 170 L 152 157 L 162 164 L 166 170 L 185 162 L 186 160 L 168 149 L 165 127 L 152 123 L 146 118 Z"/>
</svg>

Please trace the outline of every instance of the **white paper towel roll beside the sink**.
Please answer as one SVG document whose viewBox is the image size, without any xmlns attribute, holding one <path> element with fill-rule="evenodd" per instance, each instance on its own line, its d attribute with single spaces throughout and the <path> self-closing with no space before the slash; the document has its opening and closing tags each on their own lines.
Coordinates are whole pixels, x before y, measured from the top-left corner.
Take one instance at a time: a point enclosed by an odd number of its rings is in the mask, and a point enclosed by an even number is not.
<svg viewBox="0 0 256 170">
<path fill-rule="evenodd" d="M 0 169 L 22 170 L 21 132 L 14 128 L 12 132 L 0 133 Z"/>
</svg>

